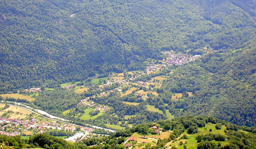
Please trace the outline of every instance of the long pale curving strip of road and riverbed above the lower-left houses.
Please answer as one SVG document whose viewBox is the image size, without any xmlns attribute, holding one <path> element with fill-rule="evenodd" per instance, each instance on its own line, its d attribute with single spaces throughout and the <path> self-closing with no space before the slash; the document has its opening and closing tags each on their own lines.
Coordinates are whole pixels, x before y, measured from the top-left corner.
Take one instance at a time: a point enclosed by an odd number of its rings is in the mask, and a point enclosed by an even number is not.
<svg viewBox="0 0 256 149">
<path fill-rule="evenodd" d="M 55 120 L 55 121 L 57 120 L 59 122 L 65 123 L 65 124 L 71 124 L 71 125 L 75 125 L 75 126 L 79 126 L 80 127 L 80 125 L 76 125 L 76 124 L 70 123 L 70 120 L 67 120 L 67 119 L 64 119 L 64 118 L 60 118 L 60 117 L 51 115 L 51 114 L 49 114 L 47 112 L 44 112 L 44 111 L 41 111 L 41 110 L 38 110 L 38 109 L 34 109 L 32 107 L 29 107 L 29 106 L 24 105 L 24 104 L 19 103 L 19 102 L 2 101 L 2 100 L 1 100 L 1 102 L 2 103 L 9 103 L 8 105 L 17 106 L 17 107 L 26 109 L 26 110 L 28 110 L 30 112 L 33 112 L 35 114 L 38 114 L 39 116 L 42 116 L 42 117 L 50 119 L 50 120 Z M 103 129 L 103 130 L 107 130 L 107 131 L 110 131 L 110 132 L 116 132 L 115 130 L 105 129 L 105 128 L 94 126 L 94 125 L 91 125 L 91 124 L 86 124 L 86 125 L 88 126 L 88 128 L 92 128 L 92 129 Z M 81 127 L 84 127 L 84 126 L 81 126 Z"/>
</svg>

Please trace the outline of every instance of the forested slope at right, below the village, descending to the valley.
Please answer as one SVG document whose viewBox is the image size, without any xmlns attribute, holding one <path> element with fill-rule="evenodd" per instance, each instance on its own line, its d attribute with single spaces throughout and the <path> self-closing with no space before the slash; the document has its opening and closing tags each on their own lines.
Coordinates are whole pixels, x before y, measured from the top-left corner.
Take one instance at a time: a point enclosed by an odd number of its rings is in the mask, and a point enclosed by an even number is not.
<svg viewBox="0 0 256 149">
<path fill-rule="evenodd" d="M 173 93 L 193 92 L 177 101 L 183 114 L 214 115 L 239 125 L 256 125 L 256 41 L 229 53 L 210 54 L 179 67 L 164 83 Z"/>
</svg>

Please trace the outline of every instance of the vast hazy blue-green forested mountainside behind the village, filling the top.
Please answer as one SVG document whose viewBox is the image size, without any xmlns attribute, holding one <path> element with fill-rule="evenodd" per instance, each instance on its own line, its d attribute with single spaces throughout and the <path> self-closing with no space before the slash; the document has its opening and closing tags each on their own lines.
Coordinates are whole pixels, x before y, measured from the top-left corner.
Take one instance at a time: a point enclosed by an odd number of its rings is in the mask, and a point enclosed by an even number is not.
<svg viewBox="0 0 256 149">
<path fill-rule="evenodd" d="M 49 79 L 83 80 L 94 73 L 139 69 L 144 58 L 158 58 L 161 50 L 197 54 L 203 47 L 240 47 L 255 38 L 254 4 L 1 0 L 0 92 Z"/>
</svg>

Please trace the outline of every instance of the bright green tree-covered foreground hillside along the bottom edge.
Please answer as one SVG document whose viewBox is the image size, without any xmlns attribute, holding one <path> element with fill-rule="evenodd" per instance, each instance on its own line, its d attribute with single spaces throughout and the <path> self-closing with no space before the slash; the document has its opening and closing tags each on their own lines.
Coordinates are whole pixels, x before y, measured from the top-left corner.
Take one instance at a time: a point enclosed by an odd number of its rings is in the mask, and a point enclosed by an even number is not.
<svg viewBox="0 0 256 149">
<path fill-rule="evenodd" d="M 186 148 L 193 140 L 197 141 L 195 147 L 197 149 L 255 149 L 256 147 L 255 127 L 239 127 L 226 121 L 205 116 L 182 116 L 173 120 L 139 124 L 128 130 L 119 130 L 109 136 L 91 137 L 76 143 L 69 143 L 49 134 L 35 134 L 28 140 L 21 139 L 20 136 L 0 135 L 0 141 L 15 149 L 35 147 L 44 149 L 124 149 L 124 141 L 129 136 L 134 133 L 140 135 L 155 134 L 155 130 L 150 128 L 156 125 L 162 129 L 162 133 L 170 131 L 170 135 L 165 139 L 158 139 L 156 145 L 146 145 L 144 149 L 163 149 L 170 141 L 179 142 L 179 146 Z M 215 128 L 206 130 L 206 127 L 210 125 L 215 126 Z M 208 133 L 201 134 L 200 131 L 207 131 Z M 216 133 L 217 131 L 220 131 L 221 134 Z M 179 137 L 180 140 L 178 141 L 177 138 Z M 184 141 L 186 141 L 185 144 L 181 144 Z M 176 148 L 175 145 L 172 145 L 172 148 Z"/>
</svg>

